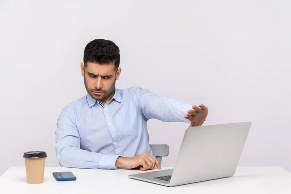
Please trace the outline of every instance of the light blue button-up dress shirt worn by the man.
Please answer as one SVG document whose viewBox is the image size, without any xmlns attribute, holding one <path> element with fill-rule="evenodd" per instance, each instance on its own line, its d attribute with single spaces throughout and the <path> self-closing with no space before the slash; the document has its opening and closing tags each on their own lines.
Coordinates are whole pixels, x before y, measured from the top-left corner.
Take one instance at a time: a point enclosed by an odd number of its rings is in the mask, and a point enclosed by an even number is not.
<svg viewBox="0 0 291 194">
<path fill-rule="evenodd" d="M 190 123 L 184 118 L 189 109 L 191 104 L 140 87 L 115 89 L 104 108 L 87 94 L 59 115 L 57 159 L 64 167 L 116 169 L 119 156 L 152 154 L 147 120 Z"/>
</svg>

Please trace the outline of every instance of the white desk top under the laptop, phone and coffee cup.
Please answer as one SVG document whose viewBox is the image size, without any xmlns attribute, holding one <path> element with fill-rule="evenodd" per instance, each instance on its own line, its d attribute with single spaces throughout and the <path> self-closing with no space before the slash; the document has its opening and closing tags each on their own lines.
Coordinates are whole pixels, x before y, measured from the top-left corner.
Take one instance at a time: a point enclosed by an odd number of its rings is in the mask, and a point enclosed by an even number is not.
<svg viewBox="0 0 291 194">
<path fill-rule="evenodd" d="M 77 180 L 58 182 L 52 176 L 55 171 L 71 171 Z M 0 194 L 291 194 L 291 173 L 281 167 L 239 166 L 231 178 L 177 187 L 128 178 L 129 174 L 142 172 L 46 167 L 44 183 L 30 185 L 26 183 L 25 167 L 11 167 L 0 177 Z"/>
</svg>

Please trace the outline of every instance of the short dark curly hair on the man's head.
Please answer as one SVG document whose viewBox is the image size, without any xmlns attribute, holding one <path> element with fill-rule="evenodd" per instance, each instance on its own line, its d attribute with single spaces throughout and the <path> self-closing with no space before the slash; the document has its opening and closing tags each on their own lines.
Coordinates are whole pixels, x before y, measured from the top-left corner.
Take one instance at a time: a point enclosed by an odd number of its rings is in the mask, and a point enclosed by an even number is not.
<svg viewBox="0 0 291 194">
<path fill-rule="evenodd" d="M 118 69 L 120 63 L 119 48 L 110 40 L 95 39 L 89 42 L 84 49 L 84 65 L 87 62 L 100 65 L 115 65 Z"/>
</svg>

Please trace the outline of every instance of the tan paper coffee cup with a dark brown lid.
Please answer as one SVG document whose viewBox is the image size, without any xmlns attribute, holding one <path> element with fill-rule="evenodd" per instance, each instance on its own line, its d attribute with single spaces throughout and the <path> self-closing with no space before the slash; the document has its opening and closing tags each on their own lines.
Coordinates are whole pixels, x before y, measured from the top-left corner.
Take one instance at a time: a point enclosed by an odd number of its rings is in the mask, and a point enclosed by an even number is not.
<svg viewBox="0 0 291 194">
<path fill-rule="evenodd" d="M 44 151 L 24 153 L 27 183 L 40 184 L 44 182 L 46 157 L 47 153 Z"/>
</svg>

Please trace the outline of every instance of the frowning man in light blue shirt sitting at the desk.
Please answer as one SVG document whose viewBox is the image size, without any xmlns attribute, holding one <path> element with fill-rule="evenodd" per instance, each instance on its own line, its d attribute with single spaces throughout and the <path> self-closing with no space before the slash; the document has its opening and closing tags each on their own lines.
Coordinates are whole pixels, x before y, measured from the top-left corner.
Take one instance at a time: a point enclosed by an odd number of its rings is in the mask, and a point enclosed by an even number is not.
<svg viewBox="0 0 291 194">
<path fill-rule="evenodd" d="M 190 105 L 150 91 L 116 89 L 119 48 L 97 39 L 84 49 L 81 75 L 88 94 L 67 105 L 56 129 L 56 154 L 60 165 L 75 168 L 161 169 L 149 146 L 146 122 L 151 118 L 201 126 L 208 108 Z"/>
</svg>

